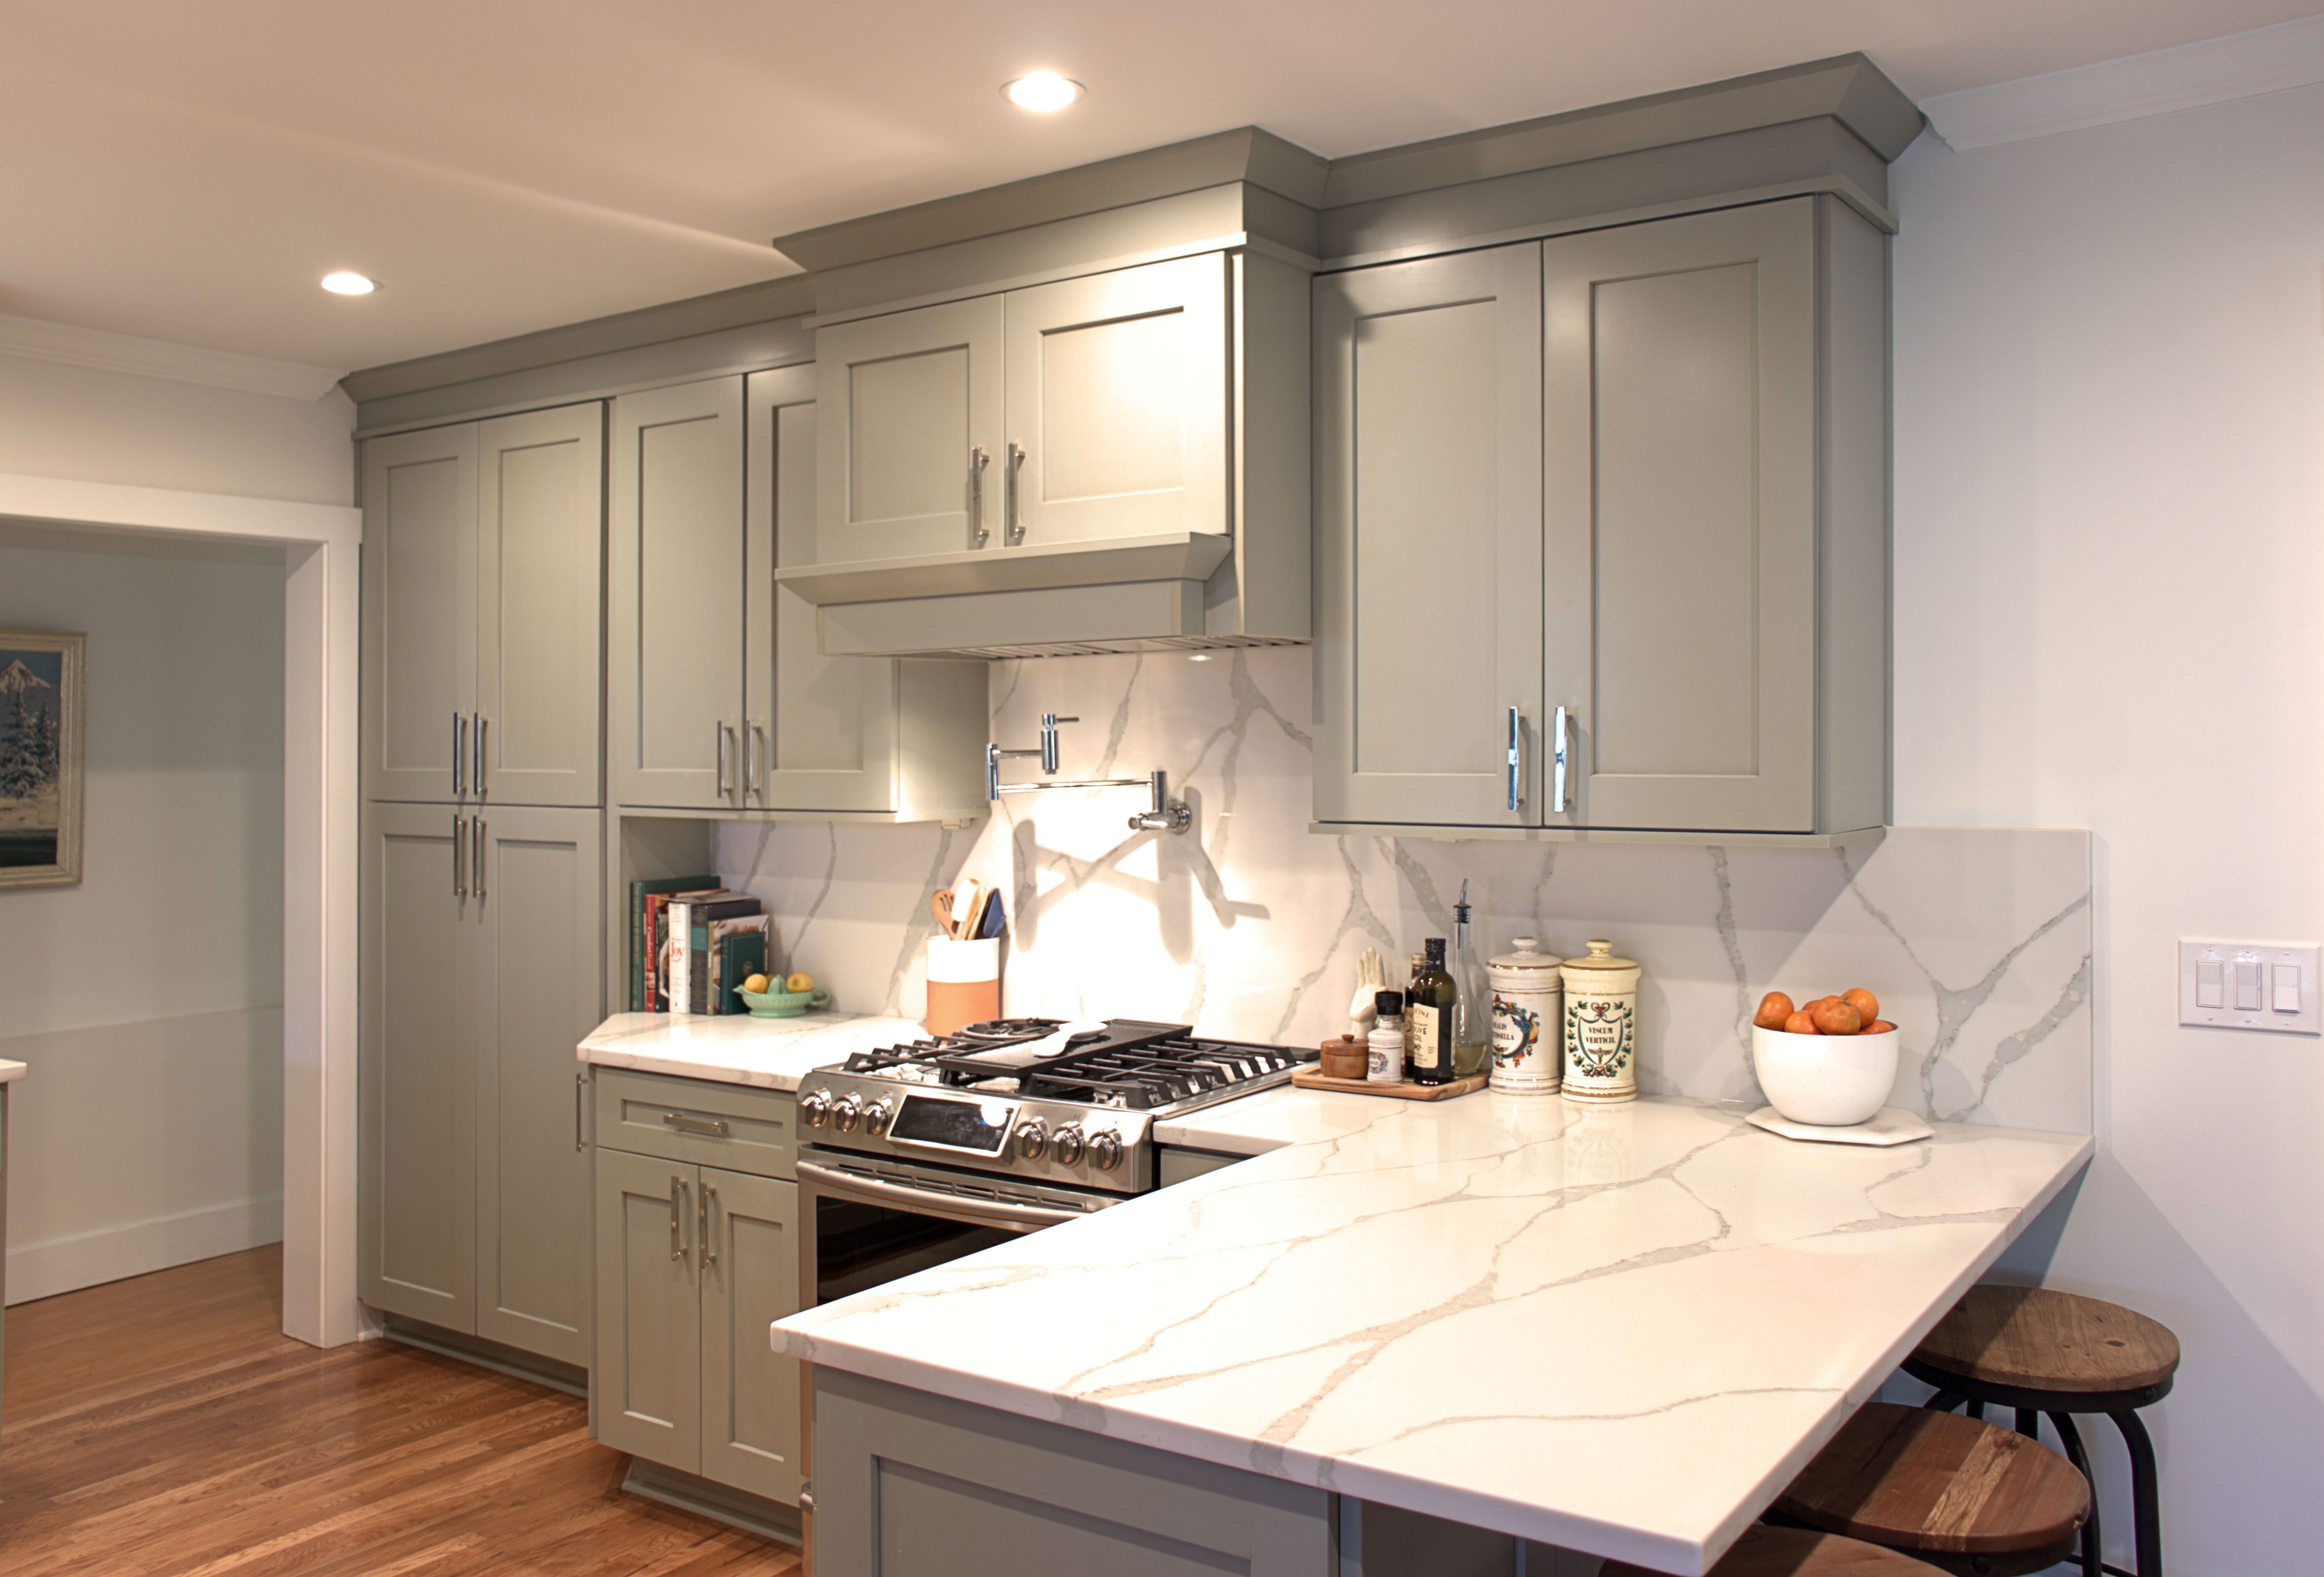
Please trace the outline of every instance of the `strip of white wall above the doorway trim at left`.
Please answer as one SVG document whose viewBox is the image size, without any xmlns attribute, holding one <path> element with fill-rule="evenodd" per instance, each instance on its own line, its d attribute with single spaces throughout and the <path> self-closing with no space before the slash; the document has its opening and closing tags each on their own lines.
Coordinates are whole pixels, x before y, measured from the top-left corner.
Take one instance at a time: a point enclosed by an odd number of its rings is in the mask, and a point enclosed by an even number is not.
<svg viewBox="0 0 2324 1577">
<path fill-rule="evenodd" d="M 353 425 L 339 390 L 284 399 L 0 355 L 0 471 L 346 504 Z"/>
</svg>

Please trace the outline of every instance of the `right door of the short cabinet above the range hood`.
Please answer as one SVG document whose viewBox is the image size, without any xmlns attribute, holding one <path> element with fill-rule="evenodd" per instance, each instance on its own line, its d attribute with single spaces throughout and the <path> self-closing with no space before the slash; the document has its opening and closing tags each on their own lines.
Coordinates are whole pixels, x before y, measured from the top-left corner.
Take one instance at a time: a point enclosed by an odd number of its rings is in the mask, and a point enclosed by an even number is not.
<svg viewBox="0 0 2324 1577">
<path fill-rule="evenodd" d="M 1225 253 L 1011 290 L 1006 318 L 1011 541 L 1232 530 Z"/>
</svg>

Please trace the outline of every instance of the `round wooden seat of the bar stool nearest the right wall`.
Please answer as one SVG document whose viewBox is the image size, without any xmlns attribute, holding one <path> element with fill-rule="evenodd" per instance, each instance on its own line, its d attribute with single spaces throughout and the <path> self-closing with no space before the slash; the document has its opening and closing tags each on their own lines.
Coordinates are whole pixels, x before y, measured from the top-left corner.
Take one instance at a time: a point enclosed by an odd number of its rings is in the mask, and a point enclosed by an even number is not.
<svg viewBox="0 0 2324 1577">
<path fill-rule="evenodd" d="M 2138 1310 L 2071 1291 L 1971 1287 L 1913 1363 L 2013 1391 L 2115 1396 L 2166 1384 L 2178 1373 L 2178 1335 Z"/>
</svg>

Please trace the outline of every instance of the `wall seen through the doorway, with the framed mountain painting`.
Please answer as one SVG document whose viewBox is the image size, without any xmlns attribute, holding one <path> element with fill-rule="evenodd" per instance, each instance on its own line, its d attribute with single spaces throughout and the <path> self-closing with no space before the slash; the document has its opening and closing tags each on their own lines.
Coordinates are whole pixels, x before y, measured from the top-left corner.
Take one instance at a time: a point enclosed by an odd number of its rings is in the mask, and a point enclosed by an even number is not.
<svg viewBox="0 0 2324 1577">
<path fill-rule="evenodd" d="M 88 634 L 84 880 L 0 892 L 7 1298 L 281 1236 L 281 550 L 0 525 Z"/>
</svg>

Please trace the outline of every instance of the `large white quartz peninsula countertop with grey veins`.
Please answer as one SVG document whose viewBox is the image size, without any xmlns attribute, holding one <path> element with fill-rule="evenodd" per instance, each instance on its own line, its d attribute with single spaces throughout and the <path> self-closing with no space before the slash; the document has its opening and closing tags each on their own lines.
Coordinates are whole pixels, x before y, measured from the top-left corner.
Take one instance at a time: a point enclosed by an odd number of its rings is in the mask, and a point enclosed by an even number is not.
<svg viewBox="0 0 2324 1577">
<path fill-rule="evenodd" d="M 1703 1572 L 2092 1154 L 1961 1124 L 1803 1145 L 1745 1110 L 1269 1092 L 1160 1129 L 1264 1154 L 774 1345 Z"/>
</svg>

